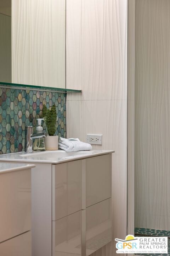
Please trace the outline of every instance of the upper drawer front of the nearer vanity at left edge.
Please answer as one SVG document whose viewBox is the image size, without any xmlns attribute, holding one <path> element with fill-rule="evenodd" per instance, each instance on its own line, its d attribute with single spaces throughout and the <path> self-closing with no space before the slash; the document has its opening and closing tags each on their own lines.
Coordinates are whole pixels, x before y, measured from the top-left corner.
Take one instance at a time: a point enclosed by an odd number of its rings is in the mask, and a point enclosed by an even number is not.
<svg viewBox="0 0 170 256">
<path fill-rule="evenodd" d="M 0 206 L 0 242 L 31 229 L 29 169 L 1 174 Z"/>
</svg>

